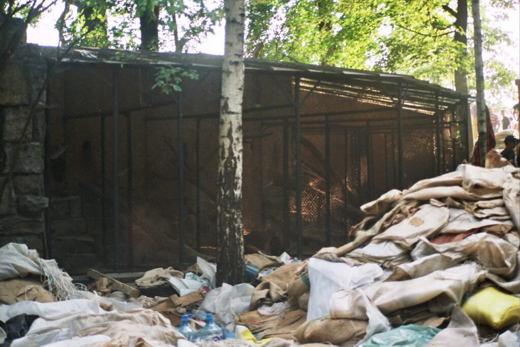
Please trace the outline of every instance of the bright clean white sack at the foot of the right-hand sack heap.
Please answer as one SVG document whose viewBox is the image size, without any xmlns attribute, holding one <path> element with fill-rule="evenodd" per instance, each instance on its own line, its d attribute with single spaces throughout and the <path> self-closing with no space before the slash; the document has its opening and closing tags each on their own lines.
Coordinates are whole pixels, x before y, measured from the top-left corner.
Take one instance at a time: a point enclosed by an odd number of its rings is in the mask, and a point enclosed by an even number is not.
<svg viewBox="0 0 520 347">
<path fill-rule="evenodd" d="M 329 300 L 338 289 L 354 289 L 383 275 L 376 264 L 349 266 L 311 258 L 308 262 L 310 295 L 307 320 L 329 315 Z"/>
</svg>

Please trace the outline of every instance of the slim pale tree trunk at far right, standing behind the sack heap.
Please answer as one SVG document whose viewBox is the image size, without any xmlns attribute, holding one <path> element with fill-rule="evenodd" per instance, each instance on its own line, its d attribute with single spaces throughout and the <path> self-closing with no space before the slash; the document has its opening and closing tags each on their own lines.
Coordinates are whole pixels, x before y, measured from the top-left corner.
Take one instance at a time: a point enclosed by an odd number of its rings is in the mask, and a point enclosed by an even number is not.
<svg viewBox="0 0 520 347">
<path fill-rule="evenodd" d="M 487 154 L 486 102 L 484 100 L 484 62 L 482 60 L 482 32 L 480 31 L 480 2 L 472 0 L 473 28 L 475 42 L 475 77 L 477 82 L 477 124 L 480 165 L 485 165 Z"/>
</svg>

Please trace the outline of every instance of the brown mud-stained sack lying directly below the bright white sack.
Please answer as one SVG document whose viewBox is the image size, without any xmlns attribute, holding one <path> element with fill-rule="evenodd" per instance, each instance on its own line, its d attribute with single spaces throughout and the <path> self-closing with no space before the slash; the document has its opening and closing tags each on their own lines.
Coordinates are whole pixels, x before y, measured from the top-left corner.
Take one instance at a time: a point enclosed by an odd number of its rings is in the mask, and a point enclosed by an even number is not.
<svg viewBox="0 0 520 347">
<path fill-rule="evenodd" d="M 354 346 L 361 341 L 368 322 L 357 319 L 332 319 L 322 317 L 308 320 L 293 333 L 293 338 L 302 343 L 330 342 Z"/>
</svg>

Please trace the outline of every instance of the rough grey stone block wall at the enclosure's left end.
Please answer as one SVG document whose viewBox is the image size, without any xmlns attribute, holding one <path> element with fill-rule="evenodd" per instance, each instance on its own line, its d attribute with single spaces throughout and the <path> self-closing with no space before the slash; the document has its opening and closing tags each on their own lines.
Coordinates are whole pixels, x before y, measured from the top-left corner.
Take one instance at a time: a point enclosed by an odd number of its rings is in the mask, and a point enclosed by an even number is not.
<svg viewBox="0 0 520 347">
<path fill-rule="evenodd" d="M 15 21 L 5 30 L 12 33 L 18 25 Z M 6 31 L 0 32 L 2 43 L 8 39 Z M 25 243 L 44 255 L 45 91 L 37 99 L 47 66 L 39 53 L 24 35 L 13 52 L 0 50 L 0 56 L 9 54 L 0 67 L 0 184 L 8 180 L 0 200 L 0 247 Z"/>
</svg>

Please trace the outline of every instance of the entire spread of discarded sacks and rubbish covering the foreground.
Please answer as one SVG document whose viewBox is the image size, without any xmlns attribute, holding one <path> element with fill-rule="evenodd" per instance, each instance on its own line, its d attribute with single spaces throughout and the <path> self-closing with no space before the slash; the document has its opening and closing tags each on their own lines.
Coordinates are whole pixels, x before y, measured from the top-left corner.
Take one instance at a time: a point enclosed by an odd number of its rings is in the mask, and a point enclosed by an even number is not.
<svg viewBox="0 0 520 347">
<path fill-rule="evenodd" d="M 250 283 L 215 265 L 97 271 L 88 291 L 24 245 L 0 249 L 0 343 L 11 346 L 518 346 L 520 171 L 456 172 L 361 207 L 353 241 L 299 261 L 245 256 Z M 172 295 L 140 295 L 167 288 Z"/>
</svg>

